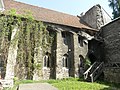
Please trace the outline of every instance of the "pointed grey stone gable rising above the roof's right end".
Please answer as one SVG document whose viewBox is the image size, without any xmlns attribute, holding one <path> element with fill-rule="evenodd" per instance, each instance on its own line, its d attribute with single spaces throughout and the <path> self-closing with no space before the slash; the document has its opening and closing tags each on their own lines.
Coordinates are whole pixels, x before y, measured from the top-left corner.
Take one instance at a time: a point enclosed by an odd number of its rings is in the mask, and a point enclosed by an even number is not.
<svg viewBox="0 0 120 90">
<path fill-rule="evenodd" d="M 81 22 L 92 28 L 100 29 L 104 25 L 103 14 L 100 5 L 95 5 L 89 9 L 85 15 L 81 16 Z"/>
</svg>

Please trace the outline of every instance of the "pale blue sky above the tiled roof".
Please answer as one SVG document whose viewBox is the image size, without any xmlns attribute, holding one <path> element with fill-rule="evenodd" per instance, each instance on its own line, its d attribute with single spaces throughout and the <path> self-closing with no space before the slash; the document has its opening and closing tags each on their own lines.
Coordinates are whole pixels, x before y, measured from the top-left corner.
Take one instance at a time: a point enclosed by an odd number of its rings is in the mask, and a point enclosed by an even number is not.
<svg viewBox="0 0 120 90">
<path fill-rule="evenodd" d="M 112 17 L 112 9 L 109 7 L 108 0 L 16 0 L 27 4 L 52 9 L 55 11 L 80 15 L 85 13 L 92 6 L 100 4 Z"/>
</svg>

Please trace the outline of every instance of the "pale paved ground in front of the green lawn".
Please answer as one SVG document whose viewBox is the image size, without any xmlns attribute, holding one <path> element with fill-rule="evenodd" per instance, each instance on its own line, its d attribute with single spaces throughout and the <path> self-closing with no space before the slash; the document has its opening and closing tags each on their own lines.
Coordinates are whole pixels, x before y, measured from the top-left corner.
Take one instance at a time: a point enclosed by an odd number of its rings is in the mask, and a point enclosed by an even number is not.
<svg viewBox="0 0 120 90">
<path fill-rule="evenodd" d="M 21 84 L 18 90 L 58 90 L 48 83 Z"/>
</svg>

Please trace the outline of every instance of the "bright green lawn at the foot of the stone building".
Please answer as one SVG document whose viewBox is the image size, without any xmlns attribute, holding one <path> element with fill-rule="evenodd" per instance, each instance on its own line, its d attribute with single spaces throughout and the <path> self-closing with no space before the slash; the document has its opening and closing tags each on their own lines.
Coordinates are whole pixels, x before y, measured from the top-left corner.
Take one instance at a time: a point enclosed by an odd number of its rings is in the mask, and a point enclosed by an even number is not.
<svg viewBox="0 0 120 90">
<path fill-rule="evenodd" d="M 46 81 L 32 81 L 32 80 L 22 80 L 17 81 L 16 85 L 24 84 L 24 83 L 44 83 L 48 82 L 51 85 L 57 87 L 59 90 L 120 90 L 120 84 L 106 83 L 97 81 L 94 83 L 85 82 L 83 80 L 79 80 L 78 78 L 70 78 L 64 80 L 46 80 Z M 15 87 L 12 89 L 5 90 L 15 90 Z"/>
</svg>

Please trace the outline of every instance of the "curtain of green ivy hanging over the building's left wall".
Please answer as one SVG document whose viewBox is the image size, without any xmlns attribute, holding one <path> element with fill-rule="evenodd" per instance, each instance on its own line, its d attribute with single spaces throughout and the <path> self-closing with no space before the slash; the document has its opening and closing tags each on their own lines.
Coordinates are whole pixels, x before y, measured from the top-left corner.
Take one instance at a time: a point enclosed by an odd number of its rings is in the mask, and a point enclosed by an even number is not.
<svg viewBox="0 0 120 90">
<path fill-rule="evenodd" d="M 18 44 L 16 76 L 21 77 L 23 71 L 26 71 L 27 79 L 32 79 L 34 68 L 41 67 L 41 65 L 36 67 L 34 65 L 34 55 L 38 54 L 38 49 L 35 49 L 41 47 L 43 53 L 46 52 L 52 45 L 53 37 L 49 35 L 46 30 L 47 26 L 42 22 L 29 17 L 13 16 L 13 14 L 15 14 L 15 10 L 12 10 L 11 15 L 0 15 L 0 54 L 3 60 L 7 60 L 9 46 L 13 45 L 14 47 Z M 15 38 L 11 40 L 14 28 L 18 28 L 18 31 Z"/>
</svg>

